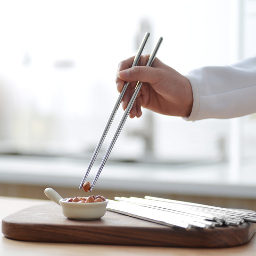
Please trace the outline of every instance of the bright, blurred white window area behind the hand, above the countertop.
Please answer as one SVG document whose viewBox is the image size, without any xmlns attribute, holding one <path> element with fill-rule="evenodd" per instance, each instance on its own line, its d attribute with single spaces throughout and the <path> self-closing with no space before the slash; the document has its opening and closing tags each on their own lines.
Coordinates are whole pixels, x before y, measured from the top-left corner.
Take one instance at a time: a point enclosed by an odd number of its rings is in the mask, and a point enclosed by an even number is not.
<svg viewBox="0 0 256 256">
<path fill-rule="evenodd" d="M 146 53 L 163 36 L 157 57 L 186 74 L 255 54 L 255 25 L 249 0 L 2 2 L 1 151 L 90 158 L 118 96 L 117 64 L 136 53 L 146 31 Z M 102 154 L 122 114 L 120 108 Z M 193 123 L 144 110 L 127 119 L 110 158 L 251 159 L 255 125 L 255 115 Z M 230 150 L 232 143 L 239 148 Z"/>
</svg>

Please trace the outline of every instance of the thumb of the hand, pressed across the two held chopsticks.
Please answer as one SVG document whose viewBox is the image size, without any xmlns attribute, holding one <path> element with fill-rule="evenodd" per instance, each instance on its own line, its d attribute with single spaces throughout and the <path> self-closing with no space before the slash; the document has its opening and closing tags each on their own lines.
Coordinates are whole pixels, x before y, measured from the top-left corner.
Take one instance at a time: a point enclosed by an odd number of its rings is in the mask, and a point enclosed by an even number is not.
<svg viewBox="0 0 256 256">
<path fill-rule="evenodd" d="M 154 84 L 158 80 L 157 70 L 153 67 L 135 66 L 119 71 L 117 76 L 126 82 L 140 81 Z"/>
</svg>

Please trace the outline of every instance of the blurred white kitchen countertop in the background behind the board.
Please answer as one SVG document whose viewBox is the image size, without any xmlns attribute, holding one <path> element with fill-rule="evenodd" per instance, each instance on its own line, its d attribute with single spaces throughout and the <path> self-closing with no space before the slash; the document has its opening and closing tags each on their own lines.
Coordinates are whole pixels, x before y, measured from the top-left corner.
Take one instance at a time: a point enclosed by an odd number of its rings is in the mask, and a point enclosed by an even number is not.
<svg viewBox="0 0 256 256">
<path fill-rule="evenodd" d="M 78 188 L 88 165 L 86 160 L 61 157 L 1 156 L 0 160 L 0 183 L 9 185 Z M 93 180 L 98 166 L 94 163 L 88 181 Z M 236 174 L 230 172 L 227 163 L 108 162 L 95 188 L 256 199 L 255 176 L 254 165 L 249 161 Z"/>
</svg>

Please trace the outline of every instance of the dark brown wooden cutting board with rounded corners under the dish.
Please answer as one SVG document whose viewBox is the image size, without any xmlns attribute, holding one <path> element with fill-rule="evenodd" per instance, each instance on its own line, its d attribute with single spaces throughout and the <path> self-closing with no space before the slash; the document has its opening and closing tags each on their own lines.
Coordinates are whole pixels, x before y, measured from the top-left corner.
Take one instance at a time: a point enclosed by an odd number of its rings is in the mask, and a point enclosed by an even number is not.
<svg viewBox="0 0 256 256">
<path fill-rule="evenodd" d="M 176 247 L 230 247 L 247 243 L 255 223 L 210 229 L 170 228 L 115 212 L 100 220 L 69 220 L 57 204 L 35 205 L 2 220 L 4 236 L 23 241 Z"/>
</svg>

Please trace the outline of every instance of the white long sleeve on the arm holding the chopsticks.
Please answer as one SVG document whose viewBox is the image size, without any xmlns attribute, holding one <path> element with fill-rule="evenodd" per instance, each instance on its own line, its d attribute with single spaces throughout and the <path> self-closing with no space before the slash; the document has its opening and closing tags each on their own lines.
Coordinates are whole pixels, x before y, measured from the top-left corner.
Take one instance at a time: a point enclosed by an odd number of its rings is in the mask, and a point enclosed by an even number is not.
<svg viewBox="0 0 256 256">
<path fill-rule="evenodd" d="M 185 120 L 232 118 L 256 112 L 256 56 L 230 66 L 198 68 L 186 77 L 194 101 Z"/>
</svg>

